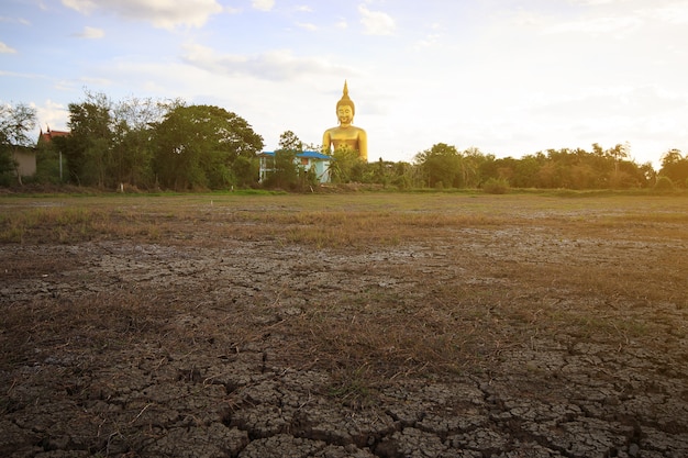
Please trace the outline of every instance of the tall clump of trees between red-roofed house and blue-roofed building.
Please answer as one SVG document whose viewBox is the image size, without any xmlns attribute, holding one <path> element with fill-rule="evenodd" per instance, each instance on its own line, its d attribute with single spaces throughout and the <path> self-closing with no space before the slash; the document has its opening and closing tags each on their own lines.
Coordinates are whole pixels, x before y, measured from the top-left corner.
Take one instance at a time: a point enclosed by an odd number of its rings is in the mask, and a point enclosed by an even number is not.
<svg viewBox="0 0 688 458">
<path fill-rule="evenodd" d="M 70 135 L 53 142 L 77 185 L 187 190 L 257 181 L 263 138 L 218 107 L 135 98 L 115 103 L 87 92 L 69 105 L 68 126 Z"/>
</svg>

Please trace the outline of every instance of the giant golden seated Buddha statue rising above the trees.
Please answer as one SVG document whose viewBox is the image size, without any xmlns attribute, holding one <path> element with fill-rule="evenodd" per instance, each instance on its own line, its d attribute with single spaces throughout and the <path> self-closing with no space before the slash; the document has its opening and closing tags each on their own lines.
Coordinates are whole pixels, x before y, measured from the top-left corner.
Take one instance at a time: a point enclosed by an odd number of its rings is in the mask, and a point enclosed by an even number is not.
<svg viewBox="0 0 688 458">
<path fill-rule="evenodd" d="M 331 154 L 332 150 L 349 149 L 358 153 L 358 157 L 368 160 L 368 136 L 366 131 L 352 125 L 356 108 L 354 101 L 348 98 L 348 87 L 344 81 L 344 93 L 339 102 L 336 102 L 336 116 L 340 125 L 328 129 L 322 136 L 322 149 L 324 154 Z"/>
</svg>

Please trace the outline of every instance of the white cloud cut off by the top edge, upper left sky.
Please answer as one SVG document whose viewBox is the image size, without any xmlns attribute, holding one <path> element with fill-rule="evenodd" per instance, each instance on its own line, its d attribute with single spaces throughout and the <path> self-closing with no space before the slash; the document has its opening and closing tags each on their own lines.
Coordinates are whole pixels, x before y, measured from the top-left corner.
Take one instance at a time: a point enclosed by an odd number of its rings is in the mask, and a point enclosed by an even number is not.
<svg viewBox="0 0 688 458">
<path fill-rule="evenodd" d="M 62 0 L 63 4 L 82 14 L 104 11 L 120 16 L 148 21 L 160 29 L 179 25 L 201 27 L 212 14 L 223 8 L 217 0 Z"/>
</svg>

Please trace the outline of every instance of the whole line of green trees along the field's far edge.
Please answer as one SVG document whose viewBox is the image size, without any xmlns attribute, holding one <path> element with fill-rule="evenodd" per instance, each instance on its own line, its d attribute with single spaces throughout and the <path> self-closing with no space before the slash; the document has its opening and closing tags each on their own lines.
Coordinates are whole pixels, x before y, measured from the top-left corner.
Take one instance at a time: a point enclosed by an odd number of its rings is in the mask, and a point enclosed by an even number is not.
<svg viewBox="0 0 688 458">
<path fill-rule="evenodd" d="M 279 141 L 275 169 L 258 182 L 260 135 L 240 115 L 223 108 L 186 104 L 181 100 L 129 98 L 119 102 L 106 94 L 86 92 L 85 100 L 68 105 L 70 134 L 38 142 L 37 182 L 68 182 L 114 189 L 177 191 L 273 187 L 303 190 L 314 177 L 293 160 L 304 144 L 291 131 Z M 0 105 L 0 185 L 21 183 L 13 154 L 34 147 L 35 109 L 26 104 Z M 688 187 L 688 156 L 670 149 L 662 168 L 629 158 L 629 147 L 591 150 L 547 149 L 521 158 L 497 158 L 478 148 L 459 152 L 437 143 L 418 153 L 411 163 L 364 163 L 355 154 L 333 153 L 334 182 L 360 182 L 413 188 L 629 189 Z M 64 170 L 63 170 L 64 169 Z M 25 178 L 25 180 L 29 178 Z"/>
</svg>

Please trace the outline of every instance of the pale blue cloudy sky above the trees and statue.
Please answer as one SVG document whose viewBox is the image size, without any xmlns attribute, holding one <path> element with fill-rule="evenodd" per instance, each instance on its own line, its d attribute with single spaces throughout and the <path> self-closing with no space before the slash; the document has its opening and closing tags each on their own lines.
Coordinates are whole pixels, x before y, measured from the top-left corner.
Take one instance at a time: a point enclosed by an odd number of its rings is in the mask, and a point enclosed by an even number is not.
<svg viewBox="0 0 688 458">
<path fill-rule="evenodd" d="M 211 104 L 321 144 L 347 81 L 369 160 L 688 154 L 688 0 L 3 0 L 0 103 Z M 34 135 L 37 137 L 38 127 Z"/>
</svg>

